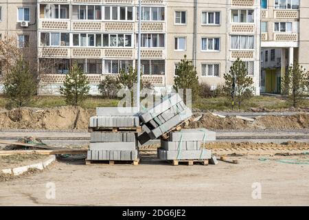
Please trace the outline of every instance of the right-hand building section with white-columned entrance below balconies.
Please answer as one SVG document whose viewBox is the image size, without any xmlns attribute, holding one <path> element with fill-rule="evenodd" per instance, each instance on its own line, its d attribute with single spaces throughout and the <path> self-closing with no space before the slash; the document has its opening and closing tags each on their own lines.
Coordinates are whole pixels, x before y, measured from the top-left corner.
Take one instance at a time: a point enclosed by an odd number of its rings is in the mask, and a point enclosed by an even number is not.
<svg viewBox="0 0 309 220">
<path fill-rule="evenodd" d="M 309 1 L 261 0 L 262 92 L 280 93 L 281 79 L 295 61 L 308 69 L 308 18 Z"/>
</svg>

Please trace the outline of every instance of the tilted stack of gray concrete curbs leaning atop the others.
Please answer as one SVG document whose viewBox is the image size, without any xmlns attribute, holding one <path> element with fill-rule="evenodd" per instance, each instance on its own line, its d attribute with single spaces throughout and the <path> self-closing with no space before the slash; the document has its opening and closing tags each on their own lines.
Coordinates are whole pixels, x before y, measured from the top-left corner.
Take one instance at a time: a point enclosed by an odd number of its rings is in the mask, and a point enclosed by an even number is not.
<svg viewBox="0 0 309 220">
<path fill-rule="evenodd" d="M 185 106 L 179 94 L 165 97 L 151 109 L 139 113 L 139 120 L 144 130 L 139 136 L 139 143 L 144 144 L 148 140 L 157 139 L 191 116 L 191 109 Z"/>
</svg>

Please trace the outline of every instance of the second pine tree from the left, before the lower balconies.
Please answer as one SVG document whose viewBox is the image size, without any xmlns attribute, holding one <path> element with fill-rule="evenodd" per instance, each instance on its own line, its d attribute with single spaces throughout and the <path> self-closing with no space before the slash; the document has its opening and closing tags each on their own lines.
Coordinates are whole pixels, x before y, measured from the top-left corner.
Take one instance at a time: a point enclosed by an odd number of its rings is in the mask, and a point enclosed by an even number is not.
<svg viewBox="0 0 309 220">
<path fill-rule="evenodd" d="M 60 94 L 65 96 L 65 102 L 73 106 L 80 105 L 89 95 L 89 80 L 77 63 L 74 63 L 69 74 L 65 76 Z"/>
</svg>

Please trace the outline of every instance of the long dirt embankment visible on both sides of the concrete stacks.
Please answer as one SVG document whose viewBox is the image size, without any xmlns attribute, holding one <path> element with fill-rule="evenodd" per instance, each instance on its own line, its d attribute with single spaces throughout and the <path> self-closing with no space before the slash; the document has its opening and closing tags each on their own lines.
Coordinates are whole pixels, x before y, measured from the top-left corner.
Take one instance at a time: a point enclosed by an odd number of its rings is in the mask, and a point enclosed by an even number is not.
<svg viewBox="0 0 309 220">
<path fill-rule="evenodd" d="M 81 107 L 13 109 L 0 111 L 0 129 L 87 129 L 92 115 L 95 115 L 95 110 Z M 257 117 L 254 122 L 249 122 L 232 116 L 219 118 L 211 113 L 205 113 L 201 120 L 192 122 L 188 127 L 216 130 L 308 129 L 309 115 L 299 113 L 290 116 L 263 116 Z"/>
</svg>

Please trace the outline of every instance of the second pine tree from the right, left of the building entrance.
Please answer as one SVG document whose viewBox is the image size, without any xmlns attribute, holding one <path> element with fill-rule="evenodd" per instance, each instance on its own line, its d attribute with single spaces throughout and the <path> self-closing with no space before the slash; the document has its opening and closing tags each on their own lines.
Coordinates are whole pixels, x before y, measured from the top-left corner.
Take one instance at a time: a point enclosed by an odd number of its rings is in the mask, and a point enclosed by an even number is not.
<svg viewBox="0 0 309 220">
<path fill-rule="evenodd" d="M 247 76 L 246 64 L 237 59 L 230 67 L 229 73 L 224 74 L 225 78 L 225 91 L 227 96 L 231 98 L 232 109 L 234 102 L 238 102 L 238 109 L 244 100 L 253 96 L 253 78 Z"/>
</svg>

